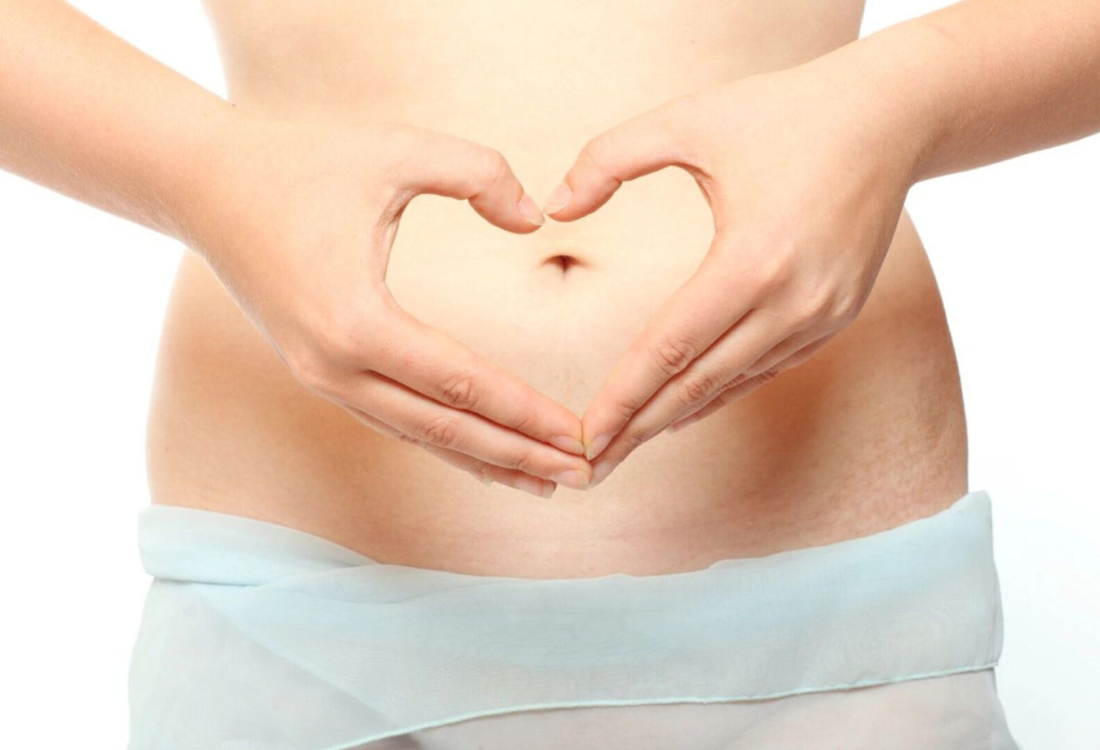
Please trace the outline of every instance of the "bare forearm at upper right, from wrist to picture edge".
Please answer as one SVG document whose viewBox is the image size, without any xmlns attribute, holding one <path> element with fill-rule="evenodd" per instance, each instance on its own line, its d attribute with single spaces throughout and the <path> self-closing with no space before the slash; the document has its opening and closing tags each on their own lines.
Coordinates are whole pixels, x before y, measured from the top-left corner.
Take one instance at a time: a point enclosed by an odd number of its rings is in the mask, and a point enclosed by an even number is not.
<svg viewBox="0 0 1100 750">
<path fill-rule="evenodd" d="M 1096 0 L 964 0 L 811 65 L 867 85 L 914 183 L 1100 131 Z"/>
</svg>

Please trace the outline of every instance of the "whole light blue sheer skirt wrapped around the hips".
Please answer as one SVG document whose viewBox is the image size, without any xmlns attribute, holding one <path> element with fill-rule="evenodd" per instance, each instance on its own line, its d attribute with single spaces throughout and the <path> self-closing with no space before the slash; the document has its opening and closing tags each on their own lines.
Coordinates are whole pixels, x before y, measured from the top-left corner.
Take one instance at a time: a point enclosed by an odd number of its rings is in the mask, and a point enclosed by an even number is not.
<svg viewBox="0 0 1100 750">
<path fill-rule="evenodd" d="M 140 511 L 139 545 L 130 750 L 1015 747 L 985 490 L 649 576 L 380 563 L 166 505 Z"/>
</svg>

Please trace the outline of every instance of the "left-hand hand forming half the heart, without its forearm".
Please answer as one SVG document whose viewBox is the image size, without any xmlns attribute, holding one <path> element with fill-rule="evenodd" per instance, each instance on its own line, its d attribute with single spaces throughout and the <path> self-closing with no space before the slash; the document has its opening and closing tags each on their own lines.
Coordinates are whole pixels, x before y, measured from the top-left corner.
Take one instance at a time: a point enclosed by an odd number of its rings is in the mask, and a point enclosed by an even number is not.
<svg viewBox="0 0 1100 750">
<path fill-rule="evenodd" d="M 421 323 L 384 283 L 398 220 L 421 192 L 468 199 L 504 230 L 538 228 L 498 152 L 410 125 L 243 113 L 213 152 L 182 239 L 307 389 L 483 481 L 543 497 L 559 482 L 587 485 L 574 413 Z"/>
</svg>

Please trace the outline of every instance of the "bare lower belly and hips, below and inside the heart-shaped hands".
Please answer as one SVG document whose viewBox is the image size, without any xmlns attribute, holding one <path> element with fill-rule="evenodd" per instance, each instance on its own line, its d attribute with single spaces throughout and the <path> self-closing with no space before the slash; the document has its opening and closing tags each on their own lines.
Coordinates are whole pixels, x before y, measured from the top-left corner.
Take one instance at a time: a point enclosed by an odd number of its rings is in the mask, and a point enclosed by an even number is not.
<svg viewBox="0 0 1100 750">
<path fill-rule="evenodd" d="M 667 174 L 639 190 L 675 202 L 690 186 Z M 480 246 L 469 207 L 425 196 L 403 219 L 387 285 L 413 315 L 582 413 L 704 254 L 713 230 L 696 198 L 698 212 L 678 218 L 594 214 L 605 238 L 628 241 L 575 235 L 583 265 L 563 274 L 542 262 L 560 238 L 525 251 L 510 243 L 535 235 L 490 228 Z M 645 203 L 632 200 L 623 206 Z M 450 243 L 429 220 L 444 213 L 458 222 Z M 650 440 L 596 489 L 559 487 L 539 500 L 484 487 L 308 393 L 187 253 L 154 384 L 150 487 L 154 503 L 283 523 L 385 562 L 522 576 L 691 570 L 889 528 L 963 495 L 957 377 L 935 282 L 903 214 L 859 317 L 814 357 Z"/>
</svg>

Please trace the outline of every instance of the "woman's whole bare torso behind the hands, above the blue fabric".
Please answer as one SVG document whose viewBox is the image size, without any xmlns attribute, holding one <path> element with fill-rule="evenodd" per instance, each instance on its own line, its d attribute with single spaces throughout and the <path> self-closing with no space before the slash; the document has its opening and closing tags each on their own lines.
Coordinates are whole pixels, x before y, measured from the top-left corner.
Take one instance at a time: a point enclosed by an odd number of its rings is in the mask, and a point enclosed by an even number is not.
<svg viewBox="0 0 1100 750">
<path fill-rule="evenodd" d="M 501 151 L 537 200 L 583 143 L 681 93 L 788 67 L 858 35 L 858 0 L 591 3 L 207 0 L 239 107 L 402 121 Z M 409 312 L 578 415 L 695 269 L 713 224 L 686 173 L 517 235 L 413 200 L 387 285 Z M 551 262 L 571 255 L 568 272 Z M 152 500 L 270 520 L 384 562 L 573 577 L 705 567 L 927 516 L 964 495 L 955 355 L 906 213 L 856 321 L 805 363 L 598 487 L 485 487 L 290 376 L 185 253 L 148 421 Z"/>
</svg>

